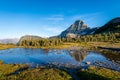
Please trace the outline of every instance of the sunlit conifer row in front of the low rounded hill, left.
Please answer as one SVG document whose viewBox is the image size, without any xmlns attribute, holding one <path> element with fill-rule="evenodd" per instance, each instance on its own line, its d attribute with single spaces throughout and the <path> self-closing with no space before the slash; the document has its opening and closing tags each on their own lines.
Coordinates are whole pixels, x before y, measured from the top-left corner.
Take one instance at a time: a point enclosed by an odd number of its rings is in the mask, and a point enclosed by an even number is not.
<svg viewBox="0 0 120 80">
<path fill-rule="evenodd" d="M 57 38 L 54 38 L 54 39 L 30 39 L 30 40 L 20 40 L 18 42 L 18 45 L 19 46 L 58 46 L 62 44 L 62 41 L 61 39 L 57 39 Z"/>
</svg>

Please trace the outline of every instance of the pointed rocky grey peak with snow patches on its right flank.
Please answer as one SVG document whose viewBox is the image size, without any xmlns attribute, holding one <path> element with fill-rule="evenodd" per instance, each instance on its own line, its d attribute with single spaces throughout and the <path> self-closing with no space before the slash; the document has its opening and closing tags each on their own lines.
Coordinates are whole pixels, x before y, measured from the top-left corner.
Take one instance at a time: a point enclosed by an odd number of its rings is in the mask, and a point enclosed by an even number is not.
<svg viewBox="0 0 120 80">
<path fill-rule="evenodd" d="M 92 34 L 96 29 L 97 28 L 91 29 L 82 20 L 77 20 L 68 29 L 63 31 L 58 37 L 66 38 Z"/>
</svg>

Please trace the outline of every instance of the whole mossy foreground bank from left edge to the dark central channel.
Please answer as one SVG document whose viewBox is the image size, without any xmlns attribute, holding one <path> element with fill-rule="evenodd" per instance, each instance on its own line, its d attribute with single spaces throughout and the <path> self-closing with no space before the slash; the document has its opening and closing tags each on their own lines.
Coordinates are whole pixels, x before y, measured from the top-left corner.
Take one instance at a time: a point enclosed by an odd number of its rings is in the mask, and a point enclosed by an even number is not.
<svg viewBox="0 0 120 80">
<path fill-rule="evenodd" d="M 28 65 L 3 64 L 0 61 L 0 80 L 72 80 L 72 77 L 62 70 L 26 67 Z"/>
</svg>

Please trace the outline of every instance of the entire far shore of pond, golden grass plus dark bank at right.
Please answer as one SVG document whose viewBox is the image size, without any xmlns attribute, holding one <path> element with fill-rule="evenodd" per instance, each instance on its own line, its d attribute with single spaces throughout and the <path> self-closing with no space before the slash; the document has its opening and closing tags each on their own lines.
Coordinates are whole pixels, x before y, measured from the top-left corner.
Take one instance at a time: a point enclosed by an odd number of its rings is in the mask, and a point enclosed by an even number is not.
<svg viewBox="0 0 120 80">
<path fill-rule="evenodd" d="M 110 42 L 82 42 L 82 43 L 63 43 L 58 46 L 17 46 L 17 45 L 0 45 L 0 50 L 11 49 L 11 48 L 31 48 L 31 49 L 68 49 L 68 50 L 85 50 L 85 51 L 111 51 L 120 53 L 120 43 Z"/>
</svg>

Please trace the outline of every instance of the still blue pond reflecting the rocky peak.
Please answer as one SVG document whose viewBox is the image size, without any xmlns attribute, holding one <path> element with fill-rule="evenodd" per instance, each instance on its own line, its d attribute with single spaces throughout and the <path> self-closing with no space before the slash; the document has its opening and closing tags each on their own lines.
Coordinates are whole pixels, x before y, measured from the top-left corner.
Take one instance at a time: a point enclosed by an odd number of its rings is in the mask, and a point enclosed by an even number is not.
<svg viewBox="0 0 120 80">
<path fill-rule="evenodd" d="M 87 52 L 79 50 L 59 50 L 59 49 L 27 49 L 13 48 L 0 50 L 0 60 L 7 64 L 31 64 L 31 66 L 44 66 L 47 64 L 87 66 L 90 65 L 106 67 L 120 71 L 120 65 L 113 62 L 105 55 L 97 52 Z"/>
</svg>

